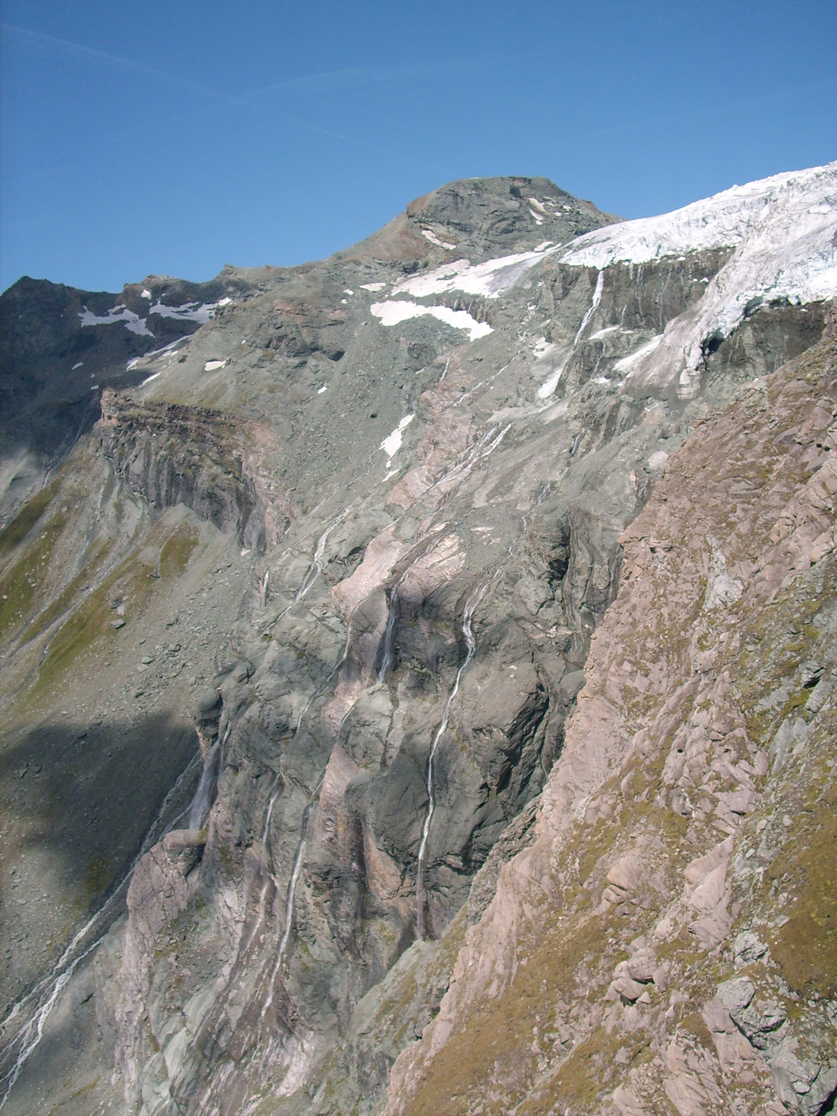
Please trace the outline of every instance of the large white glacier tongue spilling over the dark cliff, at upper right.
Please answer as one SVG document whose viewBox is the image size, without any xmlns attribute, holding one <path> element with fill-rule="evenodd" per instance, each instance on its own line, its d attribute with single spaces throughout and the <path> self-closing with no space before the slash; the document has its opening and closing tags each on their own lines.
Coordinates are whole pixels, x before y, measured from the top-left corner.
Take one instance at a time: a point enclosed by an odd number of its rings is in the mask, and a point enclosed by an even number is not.
<svg viewBox="0 0 837 1116">
<path fill-rule="evenodd" d="M 700 389 L 702 344 L 727 337 L 753 299 L 802 305 L 837 295 L 837 162 L 733 186 L 662 217 L 578 237 L 561 262 L 607 268 L 686 252 L 731 248 L 704 297 L 670 321 L 663 343 L 632 372 L 637 383 L 679 377 L 679 393 Z"/>
</svg>

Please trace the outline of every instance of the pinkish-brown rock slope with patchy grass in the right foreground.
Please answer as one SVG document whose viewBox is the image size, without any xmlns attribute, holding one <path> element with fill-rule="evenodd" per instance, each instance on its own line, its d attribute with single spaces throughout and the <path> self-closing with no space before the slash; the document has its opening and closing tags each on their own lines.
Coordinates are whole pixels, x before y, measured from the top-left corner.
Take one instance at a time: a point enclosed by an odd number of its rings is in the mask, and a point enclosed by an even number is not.
<svg viewBox="0 0 837 1116">
<path fill-rule="evenodd" d="M 830 1110 L 836 359 L 700 423 L 622 536 L 538 838 L 388 1116 Z"/>
</svg>

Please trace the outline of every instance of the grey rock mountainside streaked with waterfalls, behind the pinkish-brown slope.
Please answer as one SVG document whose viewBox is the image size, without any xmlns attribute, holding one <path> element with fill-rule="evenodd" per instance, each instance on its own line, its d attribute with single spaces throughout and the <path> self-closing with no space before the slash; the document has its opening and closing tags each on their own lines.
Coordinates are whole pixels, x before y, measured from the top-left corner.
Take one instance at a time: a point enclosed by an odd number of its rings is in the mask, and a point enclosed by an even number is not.
<svg viewBox="0 0 837 1116">
<path fill-rule="evenodd" d="M 632 391 L 733 248 L 561 262 L 614 220 L 453 183 L 166 295 L 173 344 L 107 299 L 74 324 L 100 417 L 20 510 L 7 485 L 0 537 L 8 1112 L 381 1108 L 533 839 L 619 536 L 696 420 L 822 333 L 762 300 L 690 398 Z M 52 359 L 15 344 L 11 392 Z"/>
</svg>

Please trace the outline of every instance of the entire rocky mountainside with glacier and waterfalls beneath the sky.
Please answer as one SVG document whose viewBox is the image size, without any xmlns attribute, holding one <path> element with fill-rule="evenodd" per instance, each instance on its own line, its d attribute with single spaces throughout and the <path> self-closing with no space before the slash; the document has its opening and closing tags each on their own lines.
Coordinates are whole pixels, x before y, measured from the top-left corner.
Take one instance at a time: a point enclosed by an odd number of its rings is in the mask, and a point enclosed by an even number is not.
<svg viewBox="0 0 837 1116">
<path fill-rule="evenodd" d="M 837 163 L 0 296 L 3 1116 L 824 1116 Z"/>
</svg>

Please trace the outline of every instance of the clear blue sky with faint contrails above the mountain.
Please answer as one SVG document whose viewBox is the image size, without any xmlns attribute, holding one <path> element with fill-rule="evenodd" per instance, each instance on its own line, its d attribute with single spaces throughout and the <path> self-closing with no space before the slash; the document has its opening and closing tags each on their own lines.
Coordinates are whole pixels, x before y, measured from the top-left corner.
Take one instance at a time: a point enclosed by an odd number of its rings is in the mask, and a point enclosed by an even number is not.
<svg viewBox="0 0 837 1116">
<path fill-rule="evenodd" d="M 634 218 L 837 158 L 835 0 L 0 11 L 0 289 L 299 263 L 453 179 Z"/>
</svg>

